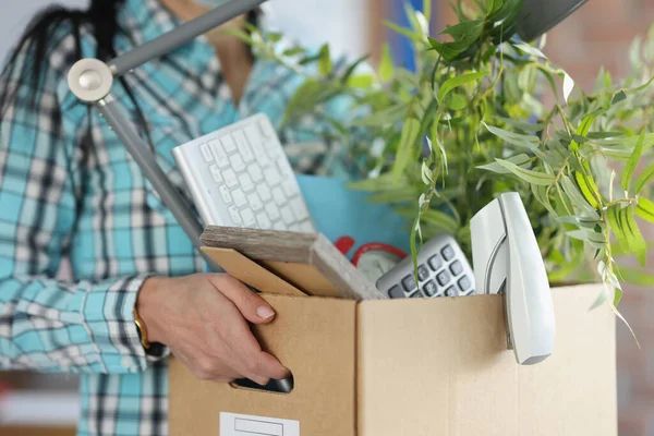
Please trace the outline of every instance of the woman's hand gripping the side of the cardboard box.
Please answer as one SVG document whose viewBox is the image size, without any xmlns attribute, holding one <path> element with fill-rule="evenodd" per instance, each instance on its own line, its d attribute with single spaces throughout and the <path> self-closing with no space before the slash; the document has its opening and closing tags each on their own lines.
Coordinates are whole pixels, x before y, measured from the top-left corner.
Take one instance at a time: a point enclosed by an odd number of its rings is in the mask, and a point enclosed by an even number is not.
<svg viewBox="0 0 654 436">
<path fill-rule="evenodd" d="M 266 385 L 290 374 L 262 351 L 247 325 L 269 323 L 275 312 L 231 276 L 149 278 L 138 293 L 137 308 L 149 341 L 168 346 L 199 379 L 250 378 Z"/>
</svg>

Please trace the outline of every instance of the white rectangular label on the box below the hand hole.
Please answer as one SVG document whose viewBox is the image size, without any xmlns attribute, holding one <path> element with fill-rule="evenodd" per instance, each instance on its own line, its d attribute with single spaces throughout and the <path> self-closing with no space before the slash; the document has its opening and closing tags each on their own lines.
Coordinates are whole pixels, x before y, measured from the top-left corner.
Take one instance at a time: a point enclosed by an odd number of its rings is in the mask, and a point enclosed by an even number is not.
<svg viewBox="0 0 654 436">
<path fill-rule="evenodd" d="M 220 412 L 220 436 L 300 436 L 300 421 Z"/>
</svg>

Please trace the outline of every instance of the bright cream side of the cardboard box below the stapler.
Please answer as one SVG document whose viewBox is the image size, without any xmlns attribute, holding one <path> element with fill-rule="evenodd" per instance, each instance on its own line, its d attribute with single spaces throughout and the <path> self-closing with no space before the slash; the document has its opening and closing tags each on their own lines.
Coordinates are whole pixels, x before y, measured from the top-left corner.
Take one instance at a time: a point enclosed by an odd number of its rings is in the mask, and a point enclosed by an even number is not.
<svg viewBox="0 0 654 436">
<path fill-rule="evenodd" d="M 519 366 L 502 299 L 359 306 L 359 436 L 617 434 L 615 316 L 601 286 L 554 289 L 556 348 Z"/>
</svg>

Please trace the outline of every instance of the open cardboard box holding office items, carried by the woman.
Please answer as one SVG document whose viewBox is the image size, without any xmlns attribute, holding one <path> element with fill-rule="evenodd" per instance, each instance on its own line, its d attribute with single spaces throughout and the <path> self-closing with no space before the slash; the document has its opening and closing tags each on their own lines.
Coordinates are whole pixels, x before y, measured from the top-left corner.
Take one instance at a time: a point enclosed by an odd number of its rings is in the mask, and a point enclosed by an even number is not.
<svg viewBox="0 0 654 436">
<path fill-rule="evenodd" d="M 615 436 L 615 316 L 601 286 L 553 290 L 556 349 L 519 366 L 499 295 L 388 301 L 265 298 L 255 328 L 291 393 L 199 382 L 170 363 L 170 434 Z M 283 420 L 283 421 L 279 421 Z"/>
</svg>

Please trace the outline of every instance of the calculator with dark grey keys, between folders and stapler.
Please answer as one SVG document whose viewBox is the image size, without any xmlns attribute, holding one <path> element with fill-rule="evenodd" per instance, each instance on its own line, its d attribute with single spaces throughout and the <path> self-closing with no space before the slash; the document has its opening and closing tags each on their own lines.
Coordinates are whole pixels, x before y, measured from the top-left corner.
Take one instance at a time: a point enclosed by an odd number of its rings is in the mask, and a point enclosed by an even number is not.
<svg viewBox="0 0 654 436">
<path fill-rule="evenodd" d="M 439 234 L 423 244 L 417 254 L 417 282 L 413 258 L 408 256 L 376 286 L 391 299 L 461 296 L 474 293 L 474 274 L 455 238 Z"/>
</svg>

